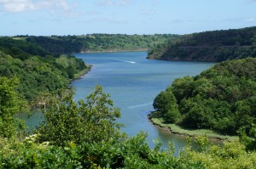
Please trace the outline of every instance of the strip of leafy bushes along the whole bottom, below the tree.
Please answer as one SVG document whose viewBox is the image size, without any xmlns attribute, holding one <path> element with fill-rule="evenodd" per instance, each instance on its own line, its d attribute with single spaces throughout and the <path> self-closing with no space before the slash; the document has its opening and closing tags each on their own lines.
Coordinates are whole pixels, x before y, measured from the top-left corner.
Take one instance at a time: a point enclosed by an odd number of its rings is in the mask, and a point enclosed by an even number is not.
<svg viewBox="0 0 256 169">
<path fill-rule="evenodd" d="M 150 149 L 144 133 L 133 138 L 122 135 L 100 143 L 67 143 L 65 146 L 34 142 L 32 135 L 20 142 L 0 138 L 0 162 L 3 168 L 255 168 L 256 154 L 247 152 L 238 142 L 207 144 L 207 138 L 195 138 L 198 149 L 187 144 L 178 156 L 173 145 L 161 150 L 156 142 Z"/>
</svg>

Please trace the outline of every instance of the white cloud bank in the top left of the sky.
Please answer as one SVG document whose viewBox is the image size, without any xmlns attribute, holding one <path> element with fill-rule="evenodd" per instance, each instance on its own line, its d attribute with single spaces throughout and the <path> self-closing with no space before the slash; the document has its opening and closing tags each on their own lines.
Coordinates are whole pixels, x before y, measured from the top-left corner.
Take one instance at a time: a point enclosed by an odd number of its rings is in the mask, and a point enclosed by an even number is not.
<svg viewBox="0 0 256 169">
<path fill-rule="evenodd" d="M 9 13 L 21 13 L 40 9 L 59 9 L 62 13 L 66 13 L 71 8 L 71 5 L 67 4 L 67 0 L 0 0 L 0 5 Z"/>
</svg>

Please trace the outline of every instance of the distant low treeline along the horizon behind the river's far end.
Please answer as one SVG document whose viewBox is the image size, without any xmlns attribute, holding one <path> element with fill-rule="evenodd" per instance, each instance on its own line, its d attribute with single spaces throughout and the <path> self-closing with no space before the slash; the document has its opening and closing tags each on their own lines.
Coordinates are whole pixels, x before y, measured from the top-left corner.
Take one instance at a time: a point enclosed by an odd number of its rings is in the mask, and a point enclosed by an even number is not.
<svg viewBox="0 0 256 169">
<path fill-rule="evenodd" d="M 16 36 L 26 42 L 37 44 L 51 54 L 73 54 L 79 52 L 112 52 L 125 50 L 147 50 L 157 48 L 169 39 L 178 35 L 123 35 L 123 34 L 90 34 L 84 36 Z"/>
</svg>

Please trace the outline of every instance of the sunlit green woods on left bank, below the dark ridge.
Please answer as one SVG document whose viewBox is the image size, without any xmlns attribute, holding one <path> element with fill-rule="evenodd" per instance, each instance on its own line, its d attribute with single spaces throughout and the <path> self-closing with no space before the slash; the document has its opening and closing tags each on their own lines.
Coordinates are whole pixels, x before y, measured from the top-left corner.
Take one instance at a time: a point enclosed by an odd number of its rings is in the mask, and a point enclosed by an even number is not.
<svg viewBox="0 0 256 169">
<path fill-rule="evenodd" d="M 20 79 L 19 94 L 29 101 L 40 102 L 41 93 L 58 93 L 61 88 L 68 88 L 70 78 L 86 68 L 81 59 L 73 56 L 61 56 L 67 61 L 67 68 L 59 63 L 59 58 L 30 56 L 28 59 L 14 59 L 0 51 L 0 75 Z"/>
</svg>

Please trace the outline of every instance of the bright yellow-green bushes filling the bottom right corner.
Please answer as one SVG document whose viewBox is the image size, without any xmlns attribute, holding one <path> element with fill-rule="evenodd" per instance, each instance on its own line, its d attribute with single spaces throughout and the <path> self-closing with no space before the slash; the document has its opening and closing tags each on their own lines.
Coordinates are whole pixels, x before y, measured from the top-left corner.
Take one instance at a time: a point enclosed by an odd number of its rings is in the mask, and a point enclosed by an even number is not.
<svg viewBox="0 0 256 169">
<path fill-rule="evenodd" d="M 199 145 L 199 149 L 191 149 L 190 144 L 188 144 L 179 155 L 180 163 L 185 165 L 198 164 L 201 168 L 239 169 L 256 167 L 255 152 L 247 152 L 241 143 L 224 142 L 224 145 L 209 145 L 206 138 L 195 139 L 195 144 Z"/>
</svg>

